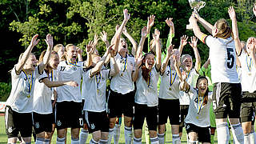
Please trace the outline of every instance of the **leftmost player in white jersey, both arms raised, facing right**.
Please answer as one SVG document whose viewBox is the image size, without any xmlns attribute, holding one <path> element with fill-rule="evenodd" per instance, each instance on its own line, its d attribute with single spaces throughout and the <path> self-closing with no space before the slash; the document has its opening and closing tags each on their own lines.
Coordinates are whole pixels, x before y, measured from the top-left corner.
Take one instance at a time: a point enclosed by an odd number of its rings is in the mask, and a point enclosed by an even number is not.
<svg viewBox="0 0 256 144">
<path fill-rule="evenodd" d="M 6 134 L 8 135 L 8 143 L 16 143 L 18 134 L 22 136 L 22 142 L 30 143 L 32 134 L 32 110 L 34 98 L 34 82 L 44 70 L 49 61 L 52 49 L 52 37 L 50 34 L 46 36 L 48 45 L 46 55 L 37 66 L 37 59 L 31 51 L 39 42 L 38 34 L 34 35 L 30 42 L 30 46 L 21 54 L 16 64 L 11 70 L 12 90 L 6 101 Z"/>
</svg>

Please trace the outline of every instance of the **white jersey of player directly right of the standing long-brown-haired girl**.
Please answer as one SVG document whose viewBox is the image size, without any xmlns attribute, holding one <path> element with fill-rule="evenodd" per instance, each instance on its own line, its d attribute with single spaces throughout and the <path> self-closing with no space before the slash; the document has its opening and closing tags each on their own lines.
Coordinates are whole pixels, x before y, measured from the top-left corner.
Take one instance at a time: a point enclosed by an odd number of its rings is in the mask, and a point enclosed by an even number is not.
<svg viewBox="0 0 256 144">
<path fill-rule="evenodd" d="M 161 76 L 159 98 L 178 99 L 180 98 L 179 91 L 179 78 L 177 72 L 171 70 L 170 66 L 166 66 L 166 70 Z"/>
</svg>

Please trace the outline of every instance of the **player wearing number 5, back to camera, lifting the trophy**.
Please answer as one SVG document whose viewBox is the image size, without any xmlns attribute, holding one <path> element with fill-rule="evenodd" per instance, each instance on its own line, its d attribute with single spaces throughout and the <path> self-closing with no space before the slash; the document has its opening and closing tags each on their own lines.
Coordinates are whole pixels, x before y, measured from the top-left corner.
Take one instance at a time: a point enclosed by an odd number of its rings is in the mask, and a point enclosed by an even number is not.
<svg viewBox="0 0 256 144">
<path fill-rule="evenodd" d="M 203 34 L 198 26 L 202 24 L 213 36 Z M 212 82 L 214 83 L 213 107 L 217 124 L 218 142 L 228 143 L 230 139 L 229 129 L 226 123 L 227 116 L 231 123 L 231 130 L 235 143 L 243 143 L 244 136 L 239 122 L 241 106 L 241 84 L 236 71 L 236 53 L 240 50 L 235 47 L 231 38 L 236 22 L 232 21 L 232 29 L 225 19 L 218 20 L 214 26 L 206 22 L 198 14 L 192 14 L 190 24 L 196 37 L 210 48 L 210 65 Z"/>
</svg>

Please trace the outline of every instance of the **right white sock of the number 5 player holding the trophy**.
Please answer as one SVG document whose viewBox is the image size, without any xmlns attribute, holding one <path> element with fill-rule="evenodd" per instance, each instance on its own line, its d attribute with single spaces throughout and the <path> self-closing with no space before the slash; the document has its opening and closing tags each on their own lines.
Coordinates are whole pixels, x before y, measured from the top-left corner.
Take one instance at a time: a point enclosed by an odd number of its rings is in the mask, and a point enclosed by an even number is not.
<svg viewBox="0 0 256 144">
<path fill-rule="evenodd" d="M 244 135 L 243 135 L 242 126 L 240 123 L 231 125 L 231 131 L 233 134 L 234 142 L 236 144 L 244 143 Z"/>
</svg>

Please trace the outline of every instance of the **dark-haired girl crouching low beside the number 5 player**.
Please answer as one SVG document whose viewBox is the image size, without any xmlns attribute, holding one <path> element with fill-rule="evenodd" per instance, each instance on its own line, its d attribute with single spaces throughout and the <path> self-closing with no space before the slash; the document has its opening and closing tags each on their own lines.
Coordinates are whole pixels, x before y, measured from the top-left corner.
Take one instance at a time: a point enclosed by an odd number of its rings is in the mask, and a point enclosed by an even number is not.
<svg viewBox="0 0 256 144">
<path fill-rule="evenodd" d="M 208 89 L 208 80 L 205 76 L 200 76 L 196 82 L 196 88 L 194 88 L 186 82 L 186 77 L 186 72 L 183 72 L 180 89 L 190 93 L 190 107 L 185 118 L 186 132 L 189 138 L 188 143 L 210 143 L 210 104 L 212 102 L 212 93 Z"/>
</svg>

